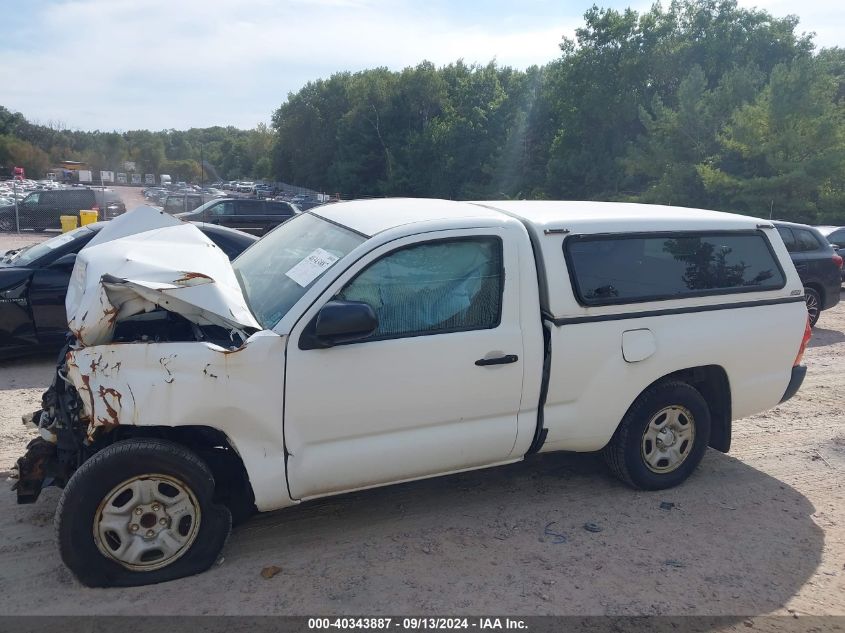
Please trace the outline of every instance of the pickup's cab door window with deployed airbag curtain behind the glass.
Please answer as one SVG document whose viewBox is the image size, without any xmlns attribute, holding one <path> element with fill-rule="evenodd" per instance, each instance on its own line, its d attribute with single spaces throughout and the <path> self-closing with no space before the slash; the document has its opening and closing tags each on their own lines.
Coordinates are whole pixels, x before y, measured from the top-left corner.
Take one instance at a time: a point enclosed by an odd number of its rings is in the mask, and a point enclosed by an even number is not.
<svg viewBox="0 0 845 633">
<path fill-rule="evenodd" d="M 443 334 L 497 327 L 503 282 L 498 238 L 438 240 L 382 257 L 338 298 L 375 311 L 378 329 L 365 340 Z"/>
</svg>

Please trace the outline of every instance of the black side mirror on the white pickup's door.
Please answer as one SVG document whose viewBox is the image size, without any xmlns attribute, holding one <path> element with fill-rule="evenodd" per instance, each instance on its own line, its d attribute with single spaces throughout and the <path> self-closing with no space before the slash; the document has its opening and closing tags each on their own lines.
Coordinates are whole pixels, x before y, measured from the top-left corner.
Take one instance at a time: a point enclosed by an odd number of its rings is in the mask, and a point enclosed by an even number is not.
<svg viewBox="0 0 845 633">
<path fill-rule="evenodd" d="M 367 338 L 378 328 L 378 317 L 361 301 L 329 301 L 305 328 L 299 349 L 325 349 Z"/>
</svg>

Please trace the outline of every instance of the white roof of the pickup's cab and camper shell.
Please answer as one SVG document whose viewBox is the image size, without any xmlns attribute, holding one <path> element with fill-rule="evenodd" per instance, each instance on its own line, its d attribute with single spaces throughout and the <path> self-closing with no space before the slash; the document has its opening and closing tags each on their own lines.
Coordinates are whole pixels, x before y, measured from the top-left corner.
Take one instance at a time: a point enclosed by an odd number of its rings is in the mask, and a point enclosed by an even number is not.
<svg viewBox="0 0 845 633">
<path fill-rule="evenodd" d="M 545 230 L 578 233 L 742 230 L 767 221 L 750 216 L 626 202 L 493 200 L 456 202 L 426 198 L 379 198 L 323 205 L 311 213 L 372 236 L 388 229 L 443 220 L 521 220 L 535 235 Z"/>
</svg>

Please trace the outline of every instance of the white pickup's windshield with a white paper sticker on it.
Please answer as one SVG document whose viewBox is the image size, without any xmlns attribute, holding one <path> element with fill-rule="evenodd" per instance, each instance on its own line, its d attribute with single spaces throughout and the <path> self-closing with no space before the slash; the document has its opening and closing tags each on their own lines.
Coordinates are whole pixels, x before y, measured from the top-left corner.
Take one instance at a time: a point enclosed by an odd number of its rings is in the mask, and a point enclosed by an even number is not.
<svg viewBox="0 0 845 633">
<path fill-rule="evenodd" d="M 317 216 L 298 215 L 244 251 L 232 267 L 255 318 L 270 329 L 365 239 Z"/>
</svg>

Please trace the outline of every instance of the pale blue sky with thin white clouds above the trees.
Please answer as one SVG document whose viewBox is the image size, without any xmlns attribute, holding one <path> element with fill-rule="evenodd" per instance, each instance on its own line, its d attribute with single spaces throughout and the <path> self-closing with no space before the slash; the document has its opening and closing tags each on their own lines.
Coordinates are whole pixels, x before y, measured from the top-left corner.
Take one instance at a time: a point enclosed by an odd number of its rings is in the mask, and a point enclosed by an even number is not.
<svg viewBox="0 0 845 633">
<path fill-rule="evenodd" d="M 667 0 L 668 1 L 668 0 Z M 252 128 L 335 72 L 560 55 L 598 4 L 651 0 L 0 0 L 0 105 L 82 130 Z M 843 0 L 740 0 L 845 46 Z"/>
</svg>

